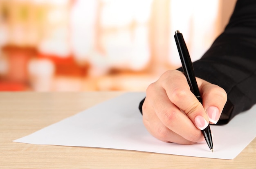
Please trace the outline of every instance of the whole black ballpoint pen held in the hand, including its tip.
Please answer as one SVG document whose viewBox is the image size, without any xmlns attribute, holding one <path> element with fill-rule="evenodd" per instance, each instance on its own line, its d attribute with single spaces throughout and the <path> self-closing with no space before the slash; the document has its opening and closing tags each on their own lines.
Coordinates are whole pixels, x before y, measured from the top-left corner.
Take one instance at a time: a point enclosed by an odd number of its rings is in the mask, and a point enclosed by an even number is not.
<svg viewBox="0 0 256 169">
<path fill-rule="evenodd" d="M 189 83 L 190 90 L 195 95 L 195 97 L 198 99 L 198 101 L 202 104 L 202 98 L 200 96 L 200 91 L 198 89 L 198 84 L 195 80 L 195 73 L 193 69 L 193 64 L 191 62 L 191 58 L 189 56 L 189 51 L 186 47 L 186 43 L 184 41 L 184 38 L 182 36 L 182 33 L 180 31 L 175 31 L 175 42 L 180 54 L 180 60 L 182 63 L 182 68 L 184 71 L 184 75 L 186 76 L 186 79 Z M 213 142 L 211 137 L 211 129 L 210 125 L 208 125 L 205 129 L 202 130 L 202 133 L 204 135 L 204 138 L 207 142 L 207 145 L 213 152 Z"/>
</svg>

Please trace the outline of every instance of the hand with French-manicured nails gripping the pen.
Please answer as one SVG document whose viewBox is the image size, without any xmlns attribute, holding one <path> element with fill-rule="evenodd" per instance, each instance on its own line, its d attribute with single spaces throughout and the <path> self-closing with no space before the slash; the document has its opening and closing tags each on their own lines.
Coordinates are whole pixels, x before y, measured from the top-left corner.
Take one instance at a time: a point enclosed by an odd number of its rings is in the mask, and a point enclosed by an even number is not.
<svg viewBox="0 0 256 169">
<path fill-rule="evenodd" d="M 146 129 L 157 139 L 190 145 L 204 140 L 201 129 L 216 124 L 227 102 L 217 85 L 196 78 L 203 105 L 190 91 L 181 71 L 170 70 L 150 84 L 142 106 Z"/>
</svg>

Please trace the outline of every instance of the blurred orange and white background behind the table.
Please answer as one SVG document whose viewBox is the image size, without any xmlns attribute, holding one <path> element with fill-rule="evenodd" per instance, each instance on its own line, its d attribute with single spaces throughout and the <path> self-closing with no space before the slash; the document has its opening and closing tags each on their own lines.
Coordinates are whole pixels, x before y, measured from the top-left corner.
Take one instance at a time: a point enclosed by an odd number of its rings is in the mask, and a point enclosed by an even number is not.
<svg viewBox="0 0 256 169">
<path fill-rule="evenodd" d="M 0 91 L 145 91 L 223 31 L 236 0 L 0 0 Z"/>
</svg>

